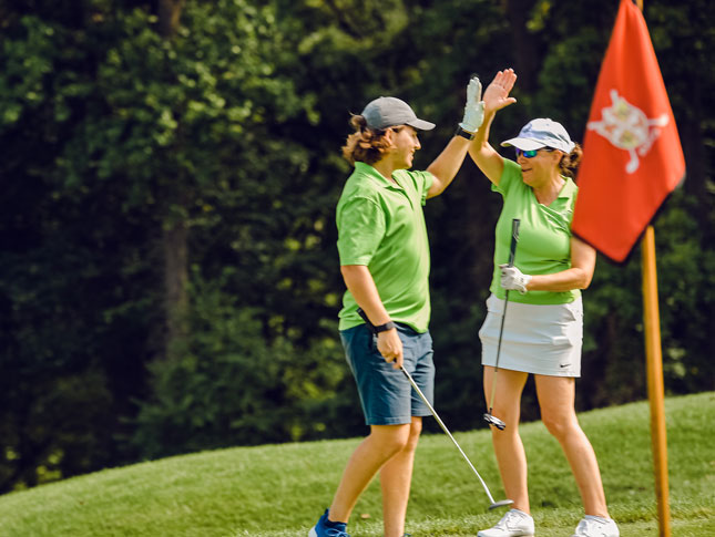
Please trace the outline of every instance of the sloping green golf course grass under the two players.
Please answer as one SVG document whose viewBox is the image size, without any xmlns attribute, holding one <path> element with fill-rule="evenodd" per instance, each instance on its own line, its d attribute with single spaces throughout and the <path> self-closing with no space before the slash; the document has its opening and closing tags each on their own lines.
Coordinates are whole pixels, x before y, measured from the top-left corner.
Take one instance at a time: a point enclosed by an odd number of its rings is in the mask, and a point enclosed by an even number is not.
<svg viewBox="0 0 715 537">
<path fill-rule="evenodd" d="M 715 536 L 715 393 L 666 400 L 673 536 Z M 623 537 L 657 535 L 647 403 L 581 414 L 599 456 L 612 516 Z M 569 537 L 581 518 L 578 490 L 541 423 L 521 427 L 537 535 Z M 503 498 L 489 432 L 454 435 Z M 302 536 L 329 504 L 359 438 L 236 447 L 108 469 L 0 496 L 0 537 Z M 467 536 L 501 513 L 442 434 L 417 452 L 408 531 Z M 372 483 L 350 521 L 355 536 L 381 535 Z"/>
</svg>

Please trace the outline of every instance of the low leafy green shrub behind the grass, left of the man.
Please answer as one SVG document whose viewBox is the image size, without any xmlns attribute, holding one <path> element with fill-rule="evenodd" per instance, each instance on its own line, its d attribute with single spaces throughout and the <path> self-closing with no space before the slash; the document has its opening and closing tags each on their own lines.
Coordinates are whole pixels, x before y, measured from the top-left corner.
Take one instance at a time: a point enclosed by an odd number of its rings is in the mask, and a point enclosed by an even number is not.
<svg viewBox="0 0 715 537">
<path fill-rule="evenodd" d="M 266 341 L 261 309 L 239 308 L 224 280 L 194 281 L 188 344 L 151 365 L 154 393 L 133 438 L 143 457 L 353 432 L 359 403 L 336 395 L 353 380 L 334 338 L 308 349 L 286 337 Z"/>
</svg>

